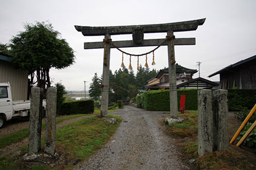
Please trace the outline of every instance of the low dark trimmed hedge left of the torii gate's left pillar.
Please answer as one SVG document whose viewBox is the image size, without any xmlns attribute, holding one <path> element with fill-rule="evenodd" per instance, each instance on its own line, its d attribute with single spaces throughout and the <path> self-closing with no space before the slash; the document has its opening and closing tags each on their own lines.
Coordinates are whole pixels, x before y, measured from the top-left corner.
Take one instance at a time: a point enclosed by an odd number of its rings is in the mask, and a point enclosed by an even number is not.
<svg viewBox="0 0 256 170">
<path fill-rule="evenodd" d="M 63 103 L 60 115 L 92 114 L 94 112 L 94 101 L 83 100 Z"/>
</svg>

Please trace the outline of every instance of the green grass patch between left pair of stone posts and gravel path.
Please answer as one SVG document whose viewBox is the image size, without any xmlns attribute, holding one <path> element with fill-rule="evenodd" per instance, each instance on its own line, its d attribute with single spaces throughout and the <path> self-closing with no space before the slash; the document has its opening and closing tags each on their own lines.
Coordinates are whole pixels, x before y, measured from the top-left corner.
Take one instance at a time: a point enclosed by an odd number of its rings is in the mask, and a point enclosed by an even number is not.
<svg viewBox="0 0 256 170">
<path fill-rule="evenodd" d="M 58 150 L 68 157 L 86 159 L 108 141 L 121 121 L 118 117 L 117 124 L 111 125 L 99 117 L 86 117 L 67 125 L 56 132 Z"/>
</svg>

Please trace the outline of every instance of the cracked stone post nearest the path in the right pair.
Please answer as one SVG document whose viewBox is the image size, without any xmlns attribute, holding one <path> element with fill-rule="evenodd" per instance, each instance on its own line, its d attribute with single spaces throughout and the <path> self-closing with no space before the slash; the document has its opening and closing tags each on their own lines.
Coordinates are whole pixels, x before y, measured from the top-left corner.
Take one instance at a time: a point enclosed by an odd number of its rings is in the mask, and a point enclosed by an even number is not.
<svg viewBox="0 0 256 170">
<path fill-rule="evenodd" d="M 198 155 L 213 150 L 212 90 L 198 91 Z"/>
</svg>

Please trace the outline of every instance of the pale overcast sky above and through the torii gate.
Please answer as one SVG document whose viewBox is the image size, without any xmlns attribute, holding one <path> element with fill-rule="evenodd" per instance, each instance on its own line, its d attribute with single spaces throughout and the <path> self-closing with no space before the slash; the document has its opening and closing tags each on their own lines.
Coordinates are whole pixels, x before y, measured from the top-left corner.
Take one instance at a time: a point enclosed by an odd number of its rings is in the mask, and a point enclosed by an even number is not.
<svg viewBox="0 0 256 170">
<path fill-rule="evenodd" d="M 158 24 L 189 21 L 206 18 L 196 31 L 174 32 L 176 38 L 196 38 L 194 46 L 175 46 L 175 60 L 190 69 L 197 69 L 202 62 L 201 77 L 208 75 L 256 55 L 256 1 L 36 1 L 1 0 L 0 43 L 9 43 L 12 36 L 24 31 L 23 23 L 49 21 L 54 30 L 61 33 L 69 46 L 74 49 L 76 63 L 62 70 L 50 71 L 54 83 L 62 82 L 67 90 L 86 90 L 94 73 L 102 74 L 103 49 L 83 49 L 84 42 L 102 41 L 103 36 L 84 37 L 74 25 L 113 26 Z M 144 39 L 165 38 L 166 33 L 147 33 Z M 132 35 L 111 36 L 113 40 L 131 40 Z M 125 52 L 141 54 L 155 47 L 122 48 Z M 150 69 L 168 67 L 167 47 L 155 52 L 156 65 Z M 152 56 L 148 56 L 148 63 Z M 118 70 L 122 53 L 112 48 L 110 70 Z M 129 66 L 129 57 L 124 55 L 124 64 Z M 145 57 L 140 58 L 145 65 Z M 132 57 L 134 72 L 137 72 L 137 58 Z M 193 78 L 197 78 L 198 73 Z M 209 79 L 209 78 L 207 78 Z M 219 81 L 219 75 L 210 78 Z"/>
</svg>

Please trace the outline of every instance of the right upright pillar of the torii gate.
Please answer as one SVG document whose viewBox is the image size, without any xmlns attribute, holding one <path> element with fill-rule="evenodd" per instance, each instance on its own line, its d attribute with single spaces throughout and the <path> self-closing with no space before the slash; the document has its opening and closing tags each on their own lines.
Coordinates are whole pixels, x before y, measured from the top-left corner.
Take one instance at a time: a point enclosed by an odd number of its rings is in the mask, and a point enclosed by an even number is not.
<svg viewBox="0 0 256 170">
<path fill-rule="evenodd" d="M 168 31 L 167 36 L 173 36 L 173 31 Z M 170 87 L 170 114 L 171 117 L 178 117 L 178 99 L 175 69 L 174 39 L 167 40 L 168 63 L 169 63 L 169 87 Z"/>
</svg>

